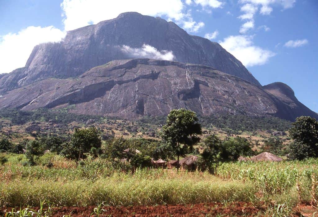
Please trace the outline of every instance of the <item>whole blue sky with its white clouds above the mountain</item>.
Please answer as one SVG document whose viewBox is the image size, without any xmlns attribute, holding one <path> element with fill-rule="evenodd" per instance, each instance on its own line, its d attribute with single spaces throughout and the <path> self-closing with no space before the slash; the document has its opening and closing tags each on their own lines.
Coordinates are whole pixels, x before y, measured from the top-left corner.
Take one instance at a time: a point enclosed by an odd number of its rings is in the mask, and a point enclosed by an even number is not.
<svg viewBox="0 0 318 217">
<path fill-rule="evenodd" d="M 126 11 L 220 43 L 262 85 L 284 82 L 318 112 L 317 0 L 0 0 L 0 72 L 23 67 L 38 43 Z"/>
</svg>

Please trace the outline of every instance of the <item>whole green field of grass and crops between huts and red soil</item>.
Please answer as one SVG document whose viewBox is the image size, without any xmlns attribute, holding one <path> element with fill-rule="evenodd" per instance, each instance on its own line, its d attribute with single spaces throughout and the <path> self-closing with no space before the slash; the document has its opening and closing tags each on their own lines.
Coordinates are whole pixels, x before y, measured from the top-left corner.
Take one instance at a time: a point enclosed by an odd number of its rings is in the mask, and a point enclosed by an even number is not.
<svg viewBox="0 0 318 217">
<path fill-rule="evenodd" d="M 24 155 L 7 155 L 0 166 L 0 205 L 110 206 L 196 204 L 232 201 L 265 207 L 260 215 L 289 216 L 298 204 L 318 200 L 318 160 L 223 163 L 208 172 L 176 172 L 174 169 L 143 169 L 123 172 L 96 159 L 80 165 L 60 156 L 46 166 L 23 166 Z M 39 163 L 41 165 L 41 163 Z"/>
</svg>

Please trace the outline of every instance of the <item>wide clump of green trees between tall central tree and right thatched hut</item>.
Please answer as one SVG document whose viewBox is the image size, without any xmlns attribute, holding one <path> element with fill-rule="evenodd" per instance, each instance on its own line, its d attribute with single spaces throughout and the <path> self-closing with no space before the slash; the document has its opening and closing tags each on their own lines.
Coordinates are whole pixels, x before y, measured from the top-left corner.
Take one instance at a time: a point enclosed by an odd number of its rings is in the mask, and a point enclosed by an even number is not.
<svg viewBox="0 0 318 217">
<path fill-rule="evenodd" d="M 251 155 L 252 145 L 245 138 L 235 137 L 221 141 L 216 135 L 210 135 L 204 140 L 202 161 L 211 170 L 215 163 L 237 161 L 239 156 Z"/>
</svg>

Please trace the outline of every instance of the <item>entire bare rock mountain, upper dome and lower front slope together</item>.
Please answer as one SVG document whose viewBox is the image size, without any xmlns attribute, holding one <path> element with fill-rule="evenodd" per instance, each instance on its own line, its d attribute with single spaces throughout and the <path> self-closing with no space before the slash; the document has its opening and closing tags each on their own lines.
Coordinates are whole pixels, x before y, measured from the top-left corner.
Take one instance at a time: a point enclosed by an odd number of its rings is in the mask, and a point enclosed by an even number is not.
<svg viewBox="0 0 318 217">
<path fill-rule="evenodd" d="M 25 67 L 0 75 L 0 108 L 42 107 L 128 119 L 167 115 L 174 108 L 203 116 L 318 119 L 289 86 L 262 87 L 218 43 L 135 12 L 69 31 L 59 43 L 37 45 Z"/>
</svg>

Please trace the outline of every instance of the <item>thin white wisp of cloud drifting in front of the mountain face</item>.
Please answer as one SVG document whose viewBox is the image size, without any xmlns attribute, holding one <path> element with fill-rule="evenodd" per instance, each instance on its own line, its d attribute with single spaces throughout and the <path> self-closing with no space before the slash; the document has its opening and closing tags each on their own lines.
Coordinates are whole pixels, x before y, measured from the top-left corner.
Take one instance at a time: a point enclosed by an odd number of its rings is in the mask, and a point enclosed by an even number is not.
<svg viewBox="0 0 318 217">
<path fill-rule="evenodd" d="M 174 60 L 175 56 L 170 50 L 157 50 L 149 44 L 142 45 L 141 48 L 131 48 L 127 45 L 121 46 L 121 51 L 133 58 L 150 58 L 156 60 Z"/>
</svg>

